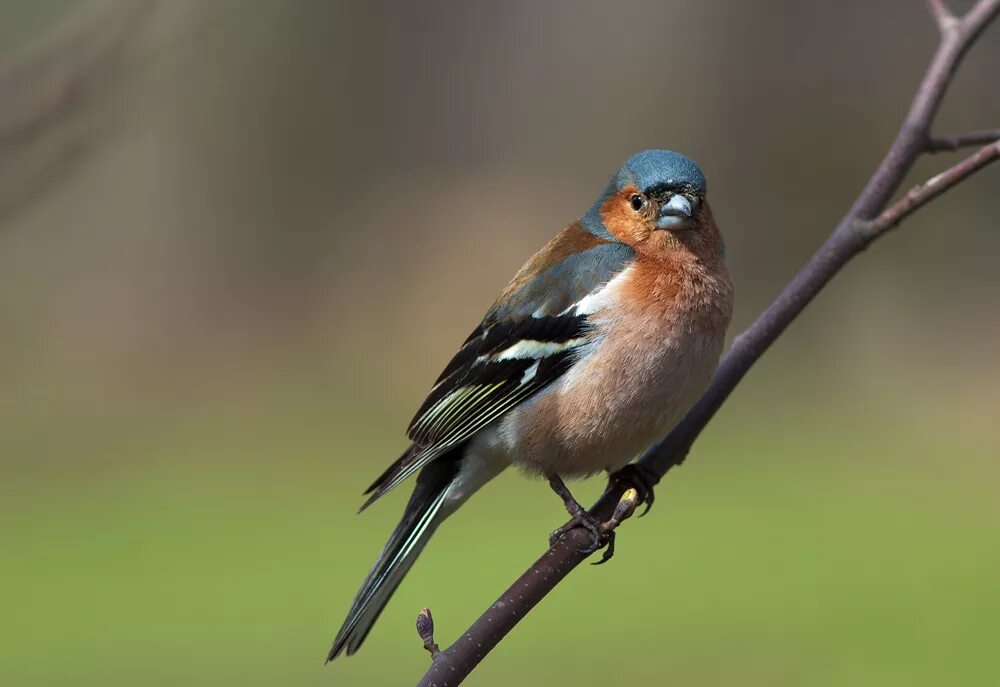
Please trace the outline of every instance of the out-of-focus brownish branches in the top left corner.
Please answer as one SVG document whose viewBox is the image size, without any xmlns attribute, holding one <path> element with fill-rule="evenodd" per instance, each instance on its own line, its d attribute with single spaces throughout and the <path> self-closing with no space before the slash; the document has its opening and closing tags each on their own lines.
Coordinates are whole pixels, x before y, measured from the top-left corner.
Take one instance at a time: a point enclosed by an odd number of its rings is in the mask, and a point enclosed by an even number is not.
<svg viewBox="0 0 1000 687">
<path fill-rule="evenodd" d="M 231 0 L 116 0 L 74 17 L 29 55 L 0 65 L 0 223 L 76 171 L 111 139 L 95 104 L 124 68 L 220 16 Z M 183 11 L 186 9 L 186 12 Z M 179 18 L 164 30 L 164 18 Z M 106 119 L 106 118 L 105 118 Z"/>
</svg>

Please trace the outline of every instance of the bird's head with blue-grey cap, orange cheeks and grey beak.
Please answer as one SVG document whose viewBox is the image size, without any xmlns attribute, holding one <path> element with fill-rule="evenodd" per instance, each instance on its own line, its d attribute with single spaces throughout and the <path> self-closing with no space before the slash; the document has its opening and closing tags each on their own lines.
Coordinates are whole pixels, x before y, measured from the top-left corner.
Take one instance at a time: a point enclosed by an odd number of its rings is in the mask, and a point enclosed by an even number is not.
<svg viewBox="0 0 1000 687">
<path fill-rule="evenodd" d="M 693 160 L 670 150 L 644 150 L 627 159 L 582 223 L 652 258 L 722 254 L 705 176 Z"/>
</svg>

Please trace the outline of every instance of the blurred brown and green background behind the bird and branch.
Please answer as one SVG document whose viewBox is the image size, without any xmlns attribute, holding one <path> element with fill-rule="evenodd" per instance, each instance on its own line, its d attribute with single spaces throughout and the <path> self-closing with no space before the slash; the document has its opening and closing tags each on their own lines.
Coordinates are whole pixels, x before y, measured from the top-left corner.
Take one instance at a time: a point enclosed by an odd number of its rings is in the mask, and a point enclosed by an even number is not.
<svg viewBox="0 0 1000 687">
<path fill-rule="evenodd" d="M 0 2 L 0 683 L 416 682 L 416 612 L 450 643 L 565 519 L 510 471 L 323 668 L 409 490 L 361 491 L 507 279 L 674 148 L 738 332 L 936 40 L 917 0 Z M 998 73 L 993 27 L 938 131 Z M 469 684 L 995 680 L 998 182 L 844 270 Z"/>
</svg>

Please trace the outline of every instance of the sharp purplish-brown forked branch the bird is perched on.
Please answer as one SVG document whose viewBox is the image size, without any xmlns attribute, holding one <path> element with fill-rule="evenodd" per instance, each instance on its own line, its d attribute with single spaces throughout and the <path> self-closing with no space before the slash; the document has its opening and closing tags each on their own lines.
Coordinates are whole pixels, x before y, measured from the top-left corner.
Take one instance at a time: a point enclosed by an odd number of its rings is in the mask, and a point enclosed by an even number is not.
<svg viewBox="0 0 1000 687">
<path fill-rule="evenodd" d="M 826 242 L 757 320 L 736 337 L 698 403 L 665 439 L 639 459 L 639 465 L 653 481 L 659 481 L 670 468 L 684 461 L 698 435 L 750 367 L 851 258 L 911 213 L 1000 156 L 1000 143 L 987 145 L 916 187 L 885 210 L 913 164 L 928 151 L 928 141 L 932 140 L 931 124 L 962 58 L 1000 12 L 1000 0 L 978 0 L 961 19 L 951 15 L 943 2 L 931 1 L 929 5 L 941 27 L 941 42 L 896 140 Z M 602 520 L 610 517 L 627 486 L 613 476 L 591 513 Z M 580 549 L 587 544 L 587 539 L 582 530 L 572 530 L 550 547 L 460 639 L 436 655 L 418 687 L 460 684 L 493 647 L 586 558 Z"/>
</svg>

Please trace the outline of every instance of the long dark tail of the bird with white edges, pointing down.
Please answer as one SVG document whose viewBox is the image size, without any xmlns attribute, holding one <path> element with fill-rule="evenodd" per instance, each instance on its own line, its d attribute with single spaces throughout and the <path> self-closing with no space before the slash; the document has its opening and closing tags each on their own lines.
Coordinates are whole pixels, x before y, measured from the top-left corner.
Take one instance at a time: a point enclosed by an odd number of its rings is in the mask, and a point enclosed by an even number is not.
<svg viewBox="0 0 1000 687">
<path fill-rule="evenodd" d="M 327 662 L 345 650 L 348 656 L 358 650 L 438 525 L 474 490 L 460 493 L 466 490 L 458 488 L 463 481 L 459 476 L 462 458 L 463 450 L 459 448 L 421 470 L 403 518 L 354 597 L 347 619 L 327 654 Z"/>
</svg>

